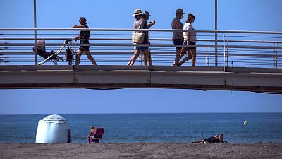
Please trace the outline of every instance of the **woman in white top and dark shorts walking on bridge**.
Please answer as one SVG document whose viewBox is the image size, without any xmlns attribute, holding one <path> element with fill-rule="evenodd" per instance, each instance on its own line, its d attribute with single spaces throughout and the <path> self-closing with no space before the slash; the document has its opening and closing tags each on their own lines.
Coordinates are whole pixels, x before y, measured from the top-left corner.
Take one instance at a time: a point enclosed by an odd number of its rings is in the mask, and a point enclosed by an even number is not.
<svg viewBox="0 0 282 159">
<path fill-rule="evenodd" d="M 188 18 L 186 20 L 185 25 L 183 26 L 183 30 L 195 30 L 192 23 L 194 23 L 195 16 L 192 14 L 188 14 Z M 184 37 L 184 45 L 196 45 L 197 42 L 197 33 L 195 31 L 183 32 Z M 184 54 L 188 51 L 188 57 L 185 57 L 178 66 L 181 66 L 186 61 L 192 59 L 192 66 L 196 64 L 196 46 L 192 47 L 183 47 L 181 49 L 180 57 L 183 57 Z"/>
</svg>

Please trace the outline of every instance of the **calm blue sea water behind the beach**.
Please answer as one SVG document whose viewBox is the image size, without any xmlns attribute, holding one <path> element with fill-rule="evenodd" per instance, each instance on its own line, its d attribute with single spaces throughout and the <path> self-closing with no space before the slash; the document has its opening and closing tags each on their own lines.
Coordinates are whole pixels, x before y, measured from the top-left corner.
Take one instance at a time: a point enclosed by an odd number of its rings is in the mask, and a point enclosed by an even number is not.
<svg viewBox="0 0 282 159">
<path fill-rule="evenodd" d="M 35 143 L 45 115 L 0 115 L 0 143 Z M 223 133 L 229 143 L 282 143 L 282 113 L 265 114 L 62 114 L 73 143 L 86 143 L 90 126 L 105 129 L 104 143 L 192 142 Z M 248 124 L 244 125 L 243 121 Z"/>
</svg>

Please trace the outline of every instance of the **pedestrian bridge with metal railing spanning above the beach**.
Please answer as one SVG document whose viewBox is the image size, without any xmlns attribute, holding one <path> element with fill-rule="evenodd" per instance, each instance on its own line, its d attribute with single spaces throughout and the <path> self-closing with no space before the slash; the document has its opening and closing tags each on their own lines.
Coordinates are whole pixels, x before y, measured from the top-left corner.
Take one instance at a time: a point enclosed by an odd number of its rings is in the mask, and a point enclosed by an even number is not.
<svg viewBox="0 0 282 159">
<path fill-rule="evenodd" d="M 197 62 L 172 66 L 173 31 L 149 32 L 149 66 L 133 54 L 132 29 L 90 29 L 90 52 L 98 66 L 82 56 L 74 68 L 66 61 L 37 65 L 43 58 L 32 47 L 46 40 L 47 51 L 59 49 L 84 29 L 0 29 L 0 88 L 181 88 L 247 90 L 282 93 L 282 33 L 232 30 L 196 30 Z M 68 45 L 75 52 L 79 42 Z M 64 57 L 65 49 L 59 55 Z M 140 56 L 141 57 L 141 56 Z"/>
</svg>

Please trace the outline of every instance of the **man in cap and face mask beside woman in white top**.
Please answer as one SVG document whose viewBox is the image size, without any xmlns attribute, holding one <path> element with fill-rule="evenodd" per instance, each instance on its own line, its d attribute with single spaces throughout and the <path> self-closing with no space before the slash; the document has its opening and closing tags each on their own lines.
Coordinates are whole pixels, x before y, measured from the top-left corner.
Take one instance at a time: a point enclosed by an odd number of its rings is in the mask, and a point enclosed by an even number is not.
<svg viewBox="0 0 282 159">
<path fill-rule="evenodd" d="M 171 28 L 172 29 L 177 29 L 177 30 L 182 30 L 183 29 L 183 23 L 181 23 L 180 19 L 184 18 L 185 13 L 183 13 L 183 9 L 177 9 L 176 10 L 176 17 L 173 18 L 171 22 Z M 173 32 L 173 37 L 172 41 L 174 45 L 183 45 L 184 37 L 182 32 Z M 176 47 L 176 57 L 174 59 L 173 66 L 177 66 L 179 63 L 179 60 L 181 59 L 180 57 L 180 52 L 181 52 L 182 47 Z"/>
</svg>

